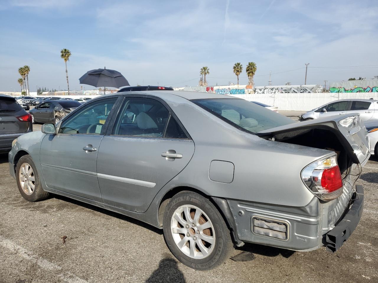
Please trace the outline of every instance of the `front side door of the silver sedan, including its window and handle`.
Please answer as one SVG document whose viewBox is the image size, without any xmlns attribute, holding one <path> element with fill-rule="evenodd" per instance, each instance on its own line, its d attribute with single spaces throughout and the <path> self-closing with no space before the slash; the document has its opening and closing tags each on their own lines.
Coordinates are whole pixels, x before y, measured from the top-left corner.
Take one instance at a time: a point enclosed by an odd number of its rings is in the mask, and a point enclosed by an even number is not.
<svg viewBox="0 0 378 283">
<path fill-rule="evenodd" d="M 88 103 L 62 121 L 41 144 L 42 174 L 49 188 L 100 201 L 96 160 L 117 97 Z"/>
</svg>

